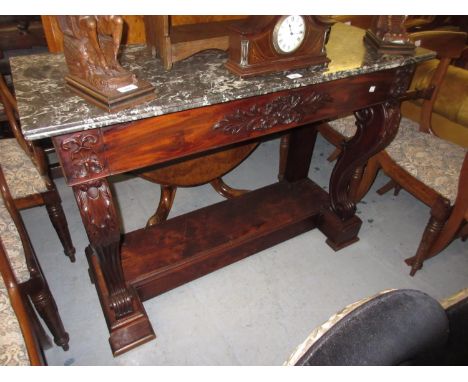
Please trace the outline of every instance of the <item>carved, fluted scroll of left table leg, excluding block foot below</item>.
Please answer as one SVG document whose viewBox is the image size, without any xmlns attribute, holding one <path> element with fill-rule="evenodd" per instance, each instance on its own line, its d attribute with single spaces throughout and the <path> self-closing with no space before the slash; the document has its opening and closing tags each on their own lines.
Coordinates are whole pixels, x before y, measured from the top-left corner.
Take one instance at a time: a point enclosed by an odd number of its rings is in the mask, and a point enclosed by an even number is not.
<svg viewBox="0 0 468 382">
<path fill-rule="evenodd" d="M 107 180 L 74 186 L 81 217 L 109 291 L 109 307 L 117 319 L 133 312 L 120 258 L 120 229 Z"/>
</svg>

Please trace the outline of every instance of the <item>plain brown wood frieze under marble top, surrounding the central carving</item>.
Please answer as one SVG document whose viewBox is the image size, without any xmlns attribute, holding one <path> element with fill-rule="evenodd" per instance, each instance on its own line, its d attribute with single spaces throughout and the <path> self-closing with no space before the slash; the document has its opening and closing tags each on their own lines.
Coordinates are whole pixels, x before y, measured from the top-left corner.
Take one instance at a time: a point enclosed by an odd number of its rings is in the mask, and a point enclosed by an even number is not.
<svg viewBox="0 0 468 382">
<path fill-rule="evenodd" d="M 389 80 L 393 75 L 394 72 L 389 70 L 293 91 L 268 94 L 255 97 L 255 100 L 233 101 L 103 128 L 103 145 L 106 148 L 109 171 L 111 174 L 117 174 L 187 157 L 208 149 L 213 150 L 233 143 L 245 142 L 297 125 L 318 121 L 331 115 L 351 112 L 368 104 L 382 102 L 387 96 Z M 370 86 L 376 86 L 375 92 L 369 93 Z M 305 96 L 312 92 L 329 94 L 333 101 L 325 104 L 315 113 L 305 115 L 300 122 L 238 134 L 213 129 L 213 126 L 226 115 L 236 110 L 249 109 L 254 103 L 262 105 L 288 94 Z M 152 144 L 142 145 L 141 142 L 152 142 Z M 120 149 L 123 146 L 127 148 L 126 151 Z M 128 153 L 132 154 L 128 155 Z M 76 181 L 68 179 L 68 183 L 73 184 Z"/>
</svg>

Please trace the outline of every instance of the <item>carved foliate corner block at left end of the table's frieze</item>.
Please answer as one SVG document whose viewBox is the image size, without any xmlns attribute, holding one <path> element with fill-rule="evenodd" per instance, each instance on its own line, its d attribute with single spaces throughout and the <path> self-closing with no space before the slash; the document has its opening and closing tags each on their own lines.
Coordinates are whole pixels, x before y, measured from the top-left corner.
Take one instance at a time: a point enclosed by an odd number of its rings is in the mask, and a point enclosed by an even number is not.
<svg viewBox="0 0 468 382">
<path fill-rule="evenodd" d="M 100 146 L 99 132 L 74 134 L 62 141 L 60 147 L 68 155 L 73 179 L 92 178 L 104 171 L 104 158 L 97 151 Z"/>
</svg>

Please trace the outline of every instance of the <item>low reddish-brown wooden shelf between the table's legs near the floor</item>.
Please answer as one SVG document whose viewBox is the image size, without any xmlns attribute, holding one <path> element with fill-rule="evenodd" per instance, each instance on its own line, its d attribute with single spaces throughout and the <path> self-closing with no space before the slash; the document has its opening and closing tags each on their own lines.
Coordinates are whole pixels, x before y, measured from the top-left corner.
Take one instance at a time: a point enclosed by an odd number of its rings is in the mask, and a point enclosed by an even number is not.
<svg viewBox="0 0 468 382">
<path fill-rule="evenodd" d="M 311 230 L 328 194 L 310 179 L 280 182 L 124 237 L 125 279 L 147 300 Z"/>
</svg>

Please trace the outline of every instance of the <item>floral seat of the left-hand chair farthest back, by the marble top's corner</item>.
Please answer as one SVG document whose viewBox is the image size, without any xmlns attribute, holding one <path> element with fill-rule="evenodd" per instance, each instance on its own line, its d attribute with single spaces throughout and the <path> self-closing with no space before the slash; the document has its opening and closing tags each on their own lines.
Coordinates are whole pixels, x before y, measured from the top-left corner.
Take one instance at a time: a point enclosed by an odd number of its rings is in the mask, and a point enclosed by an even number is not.
<svg viewBox="0 0 468 382">
<path fill-rule="evenodd" d="M 47 191 L 44 179 L 16 139 L 0 139 L 0 165 L 13 199 Z"/>
</svg>

